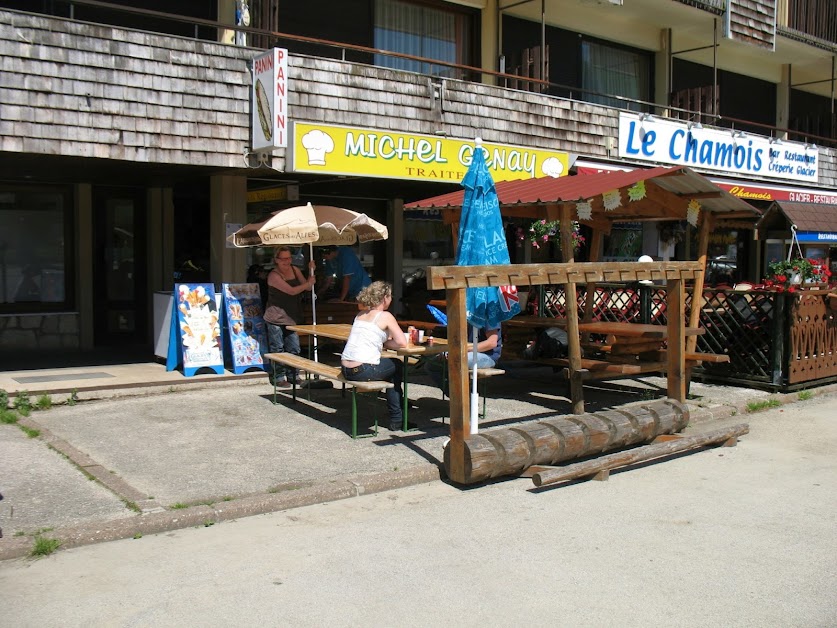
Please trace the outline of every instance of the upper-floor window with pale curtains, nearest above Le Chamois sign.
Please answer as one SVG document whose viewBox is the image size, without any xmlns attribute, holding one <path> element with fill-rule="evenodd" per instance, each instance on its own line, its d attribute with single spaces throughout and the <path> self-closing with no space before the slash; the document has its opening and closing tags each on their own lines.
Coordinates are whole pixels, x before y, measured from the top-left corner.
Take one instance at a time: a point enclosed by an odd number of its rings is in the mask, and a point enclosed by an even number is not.
<svg viewBox="0 0 837 628">
<path fill-rule="evenodd" d="M 637 50 L 583 41 L 581 44 L 582 87 L 600 94 L 615 94 L 636 100 L 651 100 L 651 56 Z M 584 100 L 608 107 L 640 111 L 641 105 L 616 98 L 585 93 Z"/>
</svg>

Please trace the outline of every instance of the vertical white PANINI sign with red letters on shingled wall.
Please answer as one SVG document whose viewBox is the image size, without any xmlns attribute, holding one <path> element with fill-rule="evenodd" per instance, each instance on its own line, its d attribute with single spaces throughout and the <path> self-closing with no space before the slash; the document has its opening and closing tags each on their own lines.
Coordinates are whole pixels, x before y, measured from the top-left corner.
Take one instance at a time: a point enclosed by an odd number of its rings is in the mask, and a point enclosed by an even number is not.
<svg viewBox="0 0 837 628">
<path fill-rule="evenodd" d="M 253 59 L 250 102 L 251 150 L 288 145 L 288 51 L 274 48 Z"/>
</svg>

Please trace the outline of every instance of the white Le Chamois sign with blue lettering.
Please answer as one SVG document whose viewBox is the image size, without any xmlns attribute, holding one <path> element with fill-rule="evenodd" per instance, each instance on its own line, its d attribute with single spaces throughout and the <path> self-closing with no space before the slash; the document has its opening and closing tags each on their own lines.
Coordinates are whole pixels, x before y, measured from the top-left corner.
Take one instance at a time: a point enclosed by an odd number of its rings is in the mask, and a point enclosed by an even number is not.
<svg viewBox="0 0 837 628">
<path fill-rule="evenodd" d="M 645 114 L 619 114 L 619 156 L 793 181 L 819 178 L 814 145 Z"/>
</svg>

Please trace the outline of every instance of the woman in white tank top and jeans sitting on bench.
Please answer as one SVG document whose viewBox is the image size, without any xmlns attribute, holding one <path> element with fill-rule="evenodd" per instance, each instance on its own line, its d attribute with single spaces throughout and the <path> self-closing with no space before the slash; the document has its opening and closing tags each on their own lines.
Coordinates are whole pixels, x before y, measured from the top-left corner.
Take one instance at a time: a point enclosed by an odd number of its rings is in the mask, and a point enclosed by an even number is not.
<svg viewBox="0 0 837 628">
<path fill-rule="evenodd" d="M 403 427 L 400 363 L 381 357 L 385 348 L 407 346 L 407 336 L 395 317 L 387 312 L 392 303 L 392 286 L 385 281 L 375 281 L 358 293 L 357 301 L 365 309 L 355 317 L 341 354 L 343 377 L 356 382 L 386 381 L 395 384 L 386 391 L 389 429 L 400 430 Z"/>
</svg>

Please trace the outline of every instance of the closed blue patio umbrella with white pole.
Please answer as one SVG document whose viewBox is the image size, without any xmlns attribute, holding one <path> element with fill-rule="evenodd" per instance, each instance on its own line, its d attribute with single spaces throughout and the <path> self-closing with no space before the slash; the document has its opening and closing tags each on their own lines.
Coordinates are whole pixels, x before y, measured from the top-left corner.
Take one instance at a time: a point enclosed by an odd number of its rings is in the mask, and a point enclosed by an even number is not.
<svg viewBox="0 0 837 628">
<path fill-rule="evenodd" d="M 509 249 L 494 180 L 485 163 L 482 141 L 477 138 L 474 156 L 462 187 L 465 197 L 459 218 L 459 241 L 456 245 L 458 266 L 509 264 Z M 474 376 L 471 391 L 471 433 L 477 433 L 477 339 L 480 328 L 496 329 L 500 323 L 520 313 L 514 286 L 468 288 L 465 295 L 468 323 L 474 327 Z"/>
</svg>

